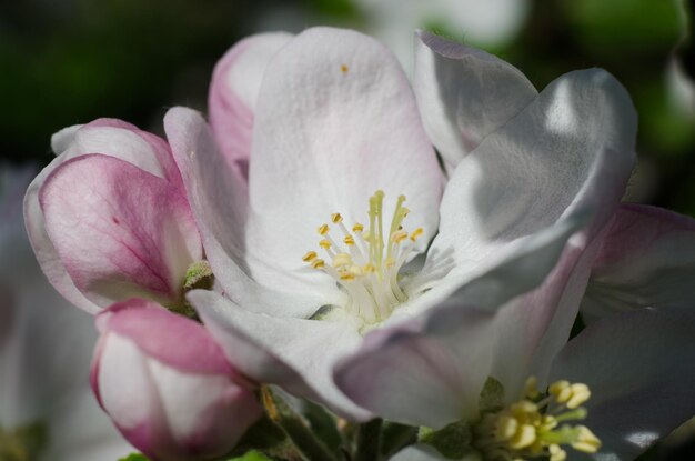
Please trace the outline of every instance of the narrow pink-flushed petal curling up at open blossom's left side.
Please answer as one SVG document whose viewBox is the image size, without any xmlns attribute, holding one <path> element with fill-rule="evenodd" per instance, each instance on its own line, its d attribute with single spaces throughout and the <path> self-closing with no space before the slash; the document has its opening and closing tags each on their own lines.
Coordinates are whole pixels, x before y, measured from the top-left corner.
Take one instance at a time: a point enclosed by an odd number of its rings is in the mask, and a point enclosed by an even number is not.
<svg viewBox="0 0 695 461">
<path fill-rule="evenodd" d="M 201 114 L 173 108 L 164 117 L 164 127 L 181 168 L 205 257 L 226 295 L 259 312 L 311 315 L 325 297 L 291 295 L 291 285 L 263 287 L 248 274 L 246 184 L 220 153 Z"/>
</svg>

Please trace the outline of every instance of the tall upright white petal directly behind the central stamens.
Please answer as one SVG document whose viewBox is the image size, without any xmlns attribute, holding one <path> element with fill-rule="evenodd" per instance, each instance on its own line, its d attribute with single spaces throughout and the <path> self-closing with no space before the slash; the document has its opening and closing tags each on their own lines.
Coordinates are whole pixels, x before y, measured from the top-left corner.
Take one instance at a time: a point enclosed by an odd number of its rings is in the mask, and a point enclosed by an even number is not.
<svg viewBox="0 0 695 461">
<path fill-rule="evenodd" d="M 382 44 L 329 28 L 296 36 L 268 66 L 254 123 L 246 261 L 256 280 L 335 291 L 302 255 L 316 249 L 316 227 L 331 213 L 365 223 L 380 189 L 384 226 L 405 194 L 406 226 L 424 228 L 426 247 L 442 172 L 407 79 Z"/>
</svg>

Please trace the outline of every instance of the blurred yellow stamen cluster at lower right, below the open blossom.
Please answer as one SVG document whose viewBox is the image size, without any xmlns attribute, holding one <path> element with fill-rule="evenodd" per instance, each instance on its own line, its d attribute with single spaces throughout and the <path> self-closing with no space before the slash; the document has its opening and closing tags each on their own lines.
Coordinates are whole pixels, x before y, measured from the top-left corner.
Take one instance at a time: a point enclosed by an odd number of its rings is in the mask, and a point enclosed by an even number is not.
<svg viewBox="0 0 695 461">
<path fill-rule="evenodd" d="M 475 427 L 475 445 L 486 460 L 564 461 L 567 453 L 561 445 L 585 453 L 601 448 L 601 441 L 588 428 L 565 423 L 586 418 L 586 410 L 581 407 L 591 397 L 586 384 L 557 381 L 548 388 L 547 397 L 541 397 L 535 379 L 531 378 L 524 399 L 482 418 Z"/>
</svg>

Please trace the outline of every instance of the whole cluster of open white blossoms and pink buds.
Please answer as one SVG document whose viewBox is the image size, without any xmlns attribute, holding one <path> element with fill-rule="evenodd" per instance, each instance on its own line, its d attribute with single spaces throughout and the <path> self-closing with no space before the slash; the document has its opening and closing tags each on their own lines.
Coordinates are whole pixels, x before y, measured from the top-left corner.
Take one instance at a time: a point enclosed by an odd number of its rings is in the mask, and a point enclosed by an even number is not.
<svg viewBox="0 0 695 461">
<path fill-rule="evenodd" d="M 54 134 L 27 230 L 95 315 L 93 392 L 145 455 L 278 430 L 280 459 L 628 460 L 695 414 L 695 221 L 621 202 L 625 89 L 590 69 L 538 92 L 427 32 L 414 62 L 258 34 L 218 63 L 209 123 Z M 407 437 L 386 450 L 382 420 Z"/>
</svg>

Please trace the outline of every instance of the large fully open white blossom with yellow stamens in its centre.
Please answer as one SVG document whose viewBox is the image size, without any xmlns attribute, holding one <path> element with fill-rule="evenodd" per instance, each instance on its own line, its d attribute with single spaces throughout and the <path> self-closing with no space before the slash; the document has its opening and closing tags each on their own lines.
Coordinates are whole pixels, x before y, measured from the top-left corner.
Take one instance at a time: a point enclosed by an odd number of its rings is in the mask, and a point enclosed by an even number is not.
<svg viewBox="0 0 695 461">
<path fill-rule="evenodd" d="M 245 97 L 248 180 L 198 113 L 172 109 L 165 129 L 225 290 L 189 299 L 240 369 L 355 420 L 441 428 L 476 421 L 491 377 L 512 404 L 527 397 L 530 377 L 546 385 L 574 373 L 552 370 L 562 368 L 592 264 L 625 210 L 614 214 L 634 163 L 636 116 L 605 71 L 571 72 L 538 93 L 490 54 L 419 38 L 420 112 L 395 59 L 364 36 L 320 28 L 282 47 L 276 37 L 248 39 L 245 49 L 278 50 L 248 73 L 242 60 L 223 67 L 261 82 Z M 224 117 L 231 127 L 239 116 Z M 443 196 L 430 142 L 449 172 Z M 655 324 L 678 315 L 654 312 Z M 612 360 L 632 363 L 617 345 Z M 562 385 L 602 389 L 591 373 L 572 379 Z M 551 403 L 568 408 L 558 397 Z M 674 413 L 658 433 L 682 420 Z M 614 420 L 590 421 L 610 439 Z M 553 443 L 534 439 L 545 443 L 535 454 L 565 455 L 565 442 L 596 451 L 591 434 L 578 424 Z M 604 450 L 621 452 L 618 440 Z"/>
</svg>

